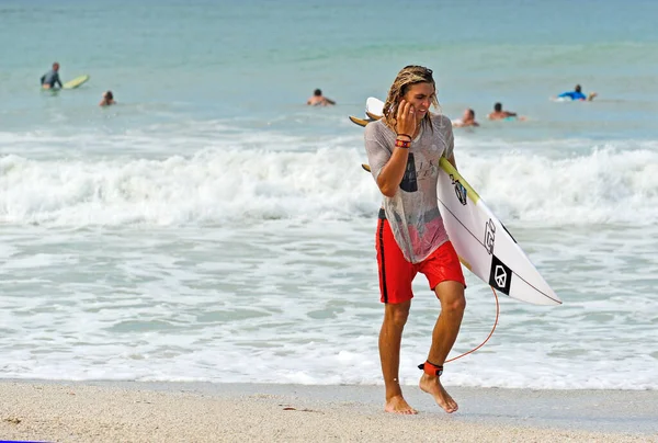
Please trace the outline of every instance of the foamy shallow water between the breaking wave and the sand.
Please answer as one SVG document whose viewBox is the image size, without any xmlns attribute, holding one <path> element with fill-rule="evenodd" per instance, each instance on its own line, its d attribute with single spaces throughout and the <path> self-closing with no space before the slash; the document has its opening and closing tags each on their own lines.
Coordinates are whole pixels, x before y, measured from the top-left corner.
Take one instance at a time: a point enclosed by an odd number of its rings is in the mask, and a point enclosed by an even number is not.
<svg viewBox="0 0 658 443">
<path fill-rule="evenodd" d="M 18 232 L 4 231 L 13 248 L 0 264 L 8 276 L 2 376 L 381 383 L 372 218 Z M 658 345 L 656 242 L 614 227 L 593 237 L 555 232 L 520 229 L 518 237 L 565 305 L 503 297 L 494 338 L 449 363 L 445 383 L 658 388 L 658 354 L 646 351 Z M 634 241 L 644 249 L 627 248 Z M 490 289 L 466 277 L 468 307 L 453 356 L 479 344 L 495 318 Z M 439 311 L 422 276 L 415 292 L 400 372 L 409 385 Z"/>
</svg>

